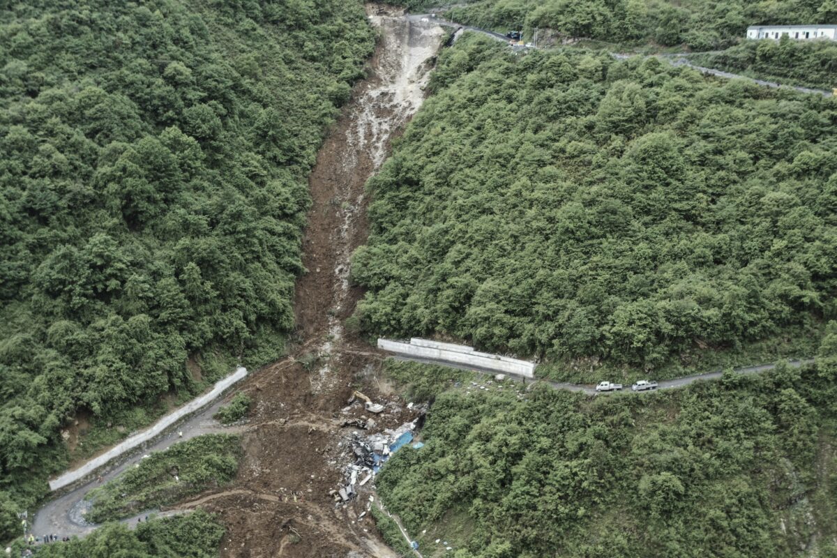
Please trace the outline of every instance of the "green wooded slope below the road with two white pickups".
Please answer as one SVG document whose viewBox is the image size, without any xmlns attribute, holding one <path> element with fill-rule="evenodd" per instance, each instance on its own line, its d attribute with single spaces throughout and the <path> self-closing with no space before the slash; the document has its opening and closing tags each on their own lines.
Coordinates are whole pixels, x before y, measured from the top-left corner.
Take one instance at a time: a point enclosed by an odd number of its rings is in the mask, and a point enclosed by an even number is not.
<svg viewBox="0 0 837 558">
<path fill-rule="evenodd" d="M 803 370 L 609 397 L 452 389 L 376 484 L 424 555 L 829 558 L 835 374 L 833 323 Z"/>
</svg>

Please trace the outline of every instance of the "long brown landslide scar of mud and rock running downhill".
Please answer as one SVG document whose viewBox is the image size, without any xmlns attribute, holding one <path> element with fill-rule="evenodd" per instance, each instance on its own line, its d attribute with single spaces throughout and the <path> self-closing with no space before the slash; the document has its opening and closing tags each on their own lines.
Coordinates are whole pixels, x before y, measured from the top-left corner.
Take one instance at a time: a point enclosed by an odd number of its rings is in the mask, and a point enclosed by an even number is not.
<svg viewBox="0 0 837 558">
<path fill-rule="evenodd" d="M 349 258 L 367 235 L 363 187 L 388 154 L 389 141 L 419 109 L 429 64 L 444 30 L 410 23 L 391 8 L 367 7 L 380 39 L 370 77 L 331 130 L 311 175 L 313 205 L 304 240 L 308 273 L 297 283 L 296 316 L 303 342 L 244 387 L 256 402 L 244 435 L 244 460 L 232 487 L 201 494 L 180 508 L 221 514 L 228 527 L 223 556 L 395 556 L 378 538 L 368 514 L 369 495 L 337 506 L 352 463 L 341 428 L 364 415 L 360 405 L 342 412 L 355 387 L 387 410 L 374 431 L 413 419 L 403 402 L 365 385 L 375 371 L 375 351 L 343 322 L 361 293 L 348 282 Z M 354 386 L 354 387 L 353 387 Z"/>
</svg>

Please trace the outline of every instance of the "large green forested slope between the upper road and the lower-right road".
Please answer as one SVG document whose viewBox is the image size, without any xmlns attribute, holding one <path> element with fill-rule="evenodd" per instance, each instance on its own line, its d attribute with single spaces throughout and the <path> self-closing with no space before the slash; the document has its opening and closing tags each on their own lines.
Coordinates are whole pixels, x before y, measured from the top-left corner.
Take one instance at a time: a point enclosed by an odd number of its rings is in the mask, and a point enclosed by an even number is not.
<svg viewBox="0 0 837 558">
<path fill-rule="evenodd" d="M 834 100 L 504 49 L 446 50 L 368 183 L 367 332 L 578 364 L 581 381 L 819 337 L 837 311 Z"/>
</svg>

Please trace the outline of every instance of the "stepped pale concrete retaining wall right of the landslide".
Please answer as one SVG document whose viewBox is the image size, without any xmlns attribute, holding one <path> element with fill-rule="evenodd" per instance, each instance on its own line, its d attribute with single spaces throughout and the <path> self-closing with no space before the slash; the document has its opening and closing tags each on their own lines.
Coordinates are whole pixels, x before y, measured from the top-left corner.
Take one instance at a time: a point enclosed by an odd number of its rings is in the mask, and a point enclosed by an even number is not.
<svg viewBox="0 0 837 558">
<path fill-rule="evenodd" d="M 466 366 L 475 366 L 483 370 L 504 372 L 531 378 L 535 376 L 535 364 L 508 356 L 490 355 L 474 351 L 474 347 L 452 345 L 413 337 L 409 343 L 378 339 L 377 347 L 398 355 L 414 356 L 431 361 L 447 361 Z"/>
</svg>

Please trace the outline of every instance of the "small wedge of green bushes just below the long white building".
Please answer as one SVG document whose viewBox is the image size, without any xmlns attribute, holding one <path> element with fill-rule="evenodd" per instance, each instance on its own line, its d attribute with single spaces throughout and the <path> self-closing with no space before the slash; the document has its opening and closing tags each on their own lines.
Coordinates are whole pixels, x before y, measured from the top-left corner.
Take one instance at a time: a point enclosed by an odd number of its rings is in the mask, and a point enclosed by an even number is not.
<svg viewBox="0 0 837 558">
<path fill-rule="evenodd" d="M 782 84 L 815 89 L 837 88 L 837 44 L 834 41 L 745 41 L 717 53 L 694 54 L 691 62 Z"/>
</svg>

